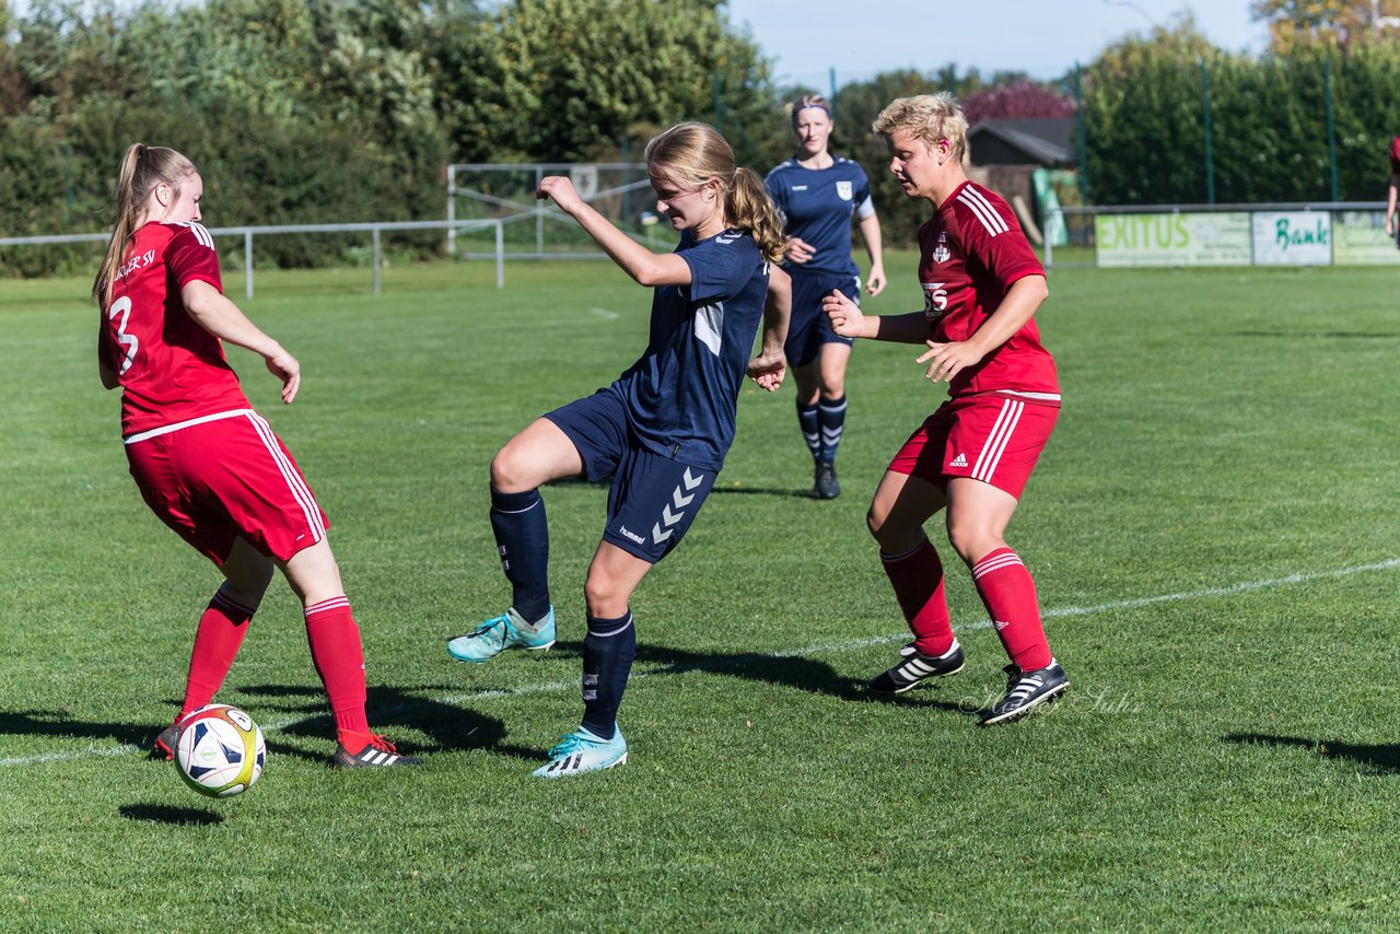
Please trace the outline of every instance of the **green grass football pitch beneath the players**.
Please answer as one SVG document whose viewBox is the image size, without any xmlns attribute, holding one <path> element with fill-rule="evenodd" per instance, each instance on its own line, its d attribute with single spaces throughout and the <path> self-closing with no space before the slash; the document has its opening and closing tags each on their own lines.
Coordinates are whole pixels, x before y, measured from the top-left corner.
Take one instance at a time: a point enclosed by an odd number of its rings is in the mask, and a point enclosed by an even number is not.
<svg viewBox="0 0 1400 934">
<path fill-rule="evenodd" d="M 248 794 L 141 748 L 217 576 L 126 473 L 77 280 L 0 283 L 0 931 L 1319 930 L 1400 910 L 1400 318 L 1386 270 L 1060 270 L 1065 393 L 1008 538 L 1074 688 L 995 730 L 1004 654 L 949 566 L 965 672 L 865 695 L 904 627 L 864 528 L 941 388 L 857 347 L 844 496 L 808 499 L 791 388 L 745 391 L 685 546 L 633 604 L 629 765 L 532 780 L 577 724 L 606 492 L 546 490 L 560 643 L 452 662 L 501 612 L 487 465 L 645 342 L 606 263 L 260 274 L 242 351 L 364 632 L 371 721 L 427 765 L 326 767 L 333 724 L 276 584 L 221 700 L 265 728 Z M 874 311 L 921 304 L 890 258 Z M 237 291 L 237 290 L 235 290 Z"/>
</svg>

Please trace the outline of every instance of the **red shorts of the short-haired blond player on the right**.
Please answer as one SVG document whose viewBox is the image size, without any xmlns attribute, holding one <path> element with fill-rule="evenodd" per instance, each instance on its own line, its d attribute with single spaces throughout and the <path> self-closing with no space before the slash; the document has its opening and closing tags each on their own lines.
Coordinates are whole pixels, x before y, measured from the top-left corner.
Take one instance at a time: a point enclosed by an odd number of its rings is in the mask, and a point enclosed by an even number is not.
<svg viewBox="0 0 1400 934">
<path fill-rule="evenodd" d="M 1021 499 L 1060 406 L 994 392 L 949 399 L 909 437 L 889 469 L 946 489 L 970 476 Z"/>
</svg>

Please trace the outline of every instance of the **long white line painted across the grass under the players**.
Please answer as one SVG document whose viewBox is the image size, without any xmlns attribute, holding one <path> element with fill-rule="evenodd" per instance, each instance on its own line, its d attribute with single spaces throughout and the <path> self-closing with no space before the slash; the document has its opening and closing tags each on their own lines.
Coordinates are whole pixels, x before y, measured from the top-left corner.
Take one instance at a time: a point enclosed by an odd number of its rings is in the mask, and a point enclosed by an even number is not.
<svg viewBox="0 0 1400 934">
<path fill-rule="evenodd" d="M 1312 581 L 1331 580 L 1337 577 L 1351 577 L 1352 574 L 1365 574 L 1368 571 L 1389 571 L 1400 567 L 1400 557 L 1392 557 L 1385 562 L 1376 562 L 1373 564 L 1352 564 L 1351 567 L 1338 567 L 1331 571 L 1316 571 L 1312 574 L 1289 574 L 1287 577 L 1273 577 L 1261 581 L 1242 581 L 1239 584 L 1228 584 L 1225 587 L 1204 587 L 1194 591 L 1180 591 L 1176 594 L 1158 594 L 1156 597 L 1138 597 L 1135 599 L 1120 599 L 1110 601 L 1107 604 L 1095 604 L 1092 606 L 1061 606 L 1058 609 L 1043 611 L 1042 616 L 1044 619 L 1063 619 L 1067 616 L 1089 616 L 1093 613 L 1106 613 L 1116 609 L 1141 609 L 1144 606 L 1152 606 L 1155 604 L 1173 604 L 1189 599 L 1201 599 L 1205 597 L 1232 597 L 1235 594 L 1249 594 L 1253 591 L 1273 590 L 1275 587 L 1289 587 L 1292 584 L 1308 584 Z M 967 632 L 973 629 L 987 629 L 991 623 L 987 620 L 976 620 L 970 623 L 958 623 L 953 629 L 959 632 Z M 756 655 L 769 655 L 770 658 L 805 658 L 808 655 L 823 655 L 829 653 L 844 653 L 857 648 L 869 648 L 871 646 L 883 646 L 888 643 L 903 643 L 909 641 L 909 633 L 897 633 L 890 636 L 872 636 L 869 639 L 853 639 L 840 643 L 823 643 L 819 646 L 808 646 L 805 648 L 785 648 L 773 653 L 755 653 Z M 636 672 L 631 675 L 636 678 L 659 676 L 659 675 L 676 675 L 689 668 L 661 668 L 652 672 Z M 578 690 L 577 681 L 557 681 L 538 685 L 525 685 L 522 688 L 501 688 L 493 690 L 479 690 L 458 695 L 448 695 L 445 697 L 438 697 L 437 700 L 445 704 L 462 704 L 470 702 L 494 700 L 498 697 L 521 697 L 525 695 L 542 695 L 542 693 L 560 693 L 566 690 Z M 290 720 L 281 720 L 267 724 L 259 724 L 263 734 L 277 734 L 287 727 L 304 723 L 309 717 L 295 717 Z M 88 746 L 85 749 L 74 749 L 71 752 L 43 752 L 32 756 L 10 756 L 0 759 L 0 767 L 6 766 L 29 766 L 42 765 L 46 762 L 71 762 L 74 759 L 91 759 L 98 756 L 119 756 L 127 752 L 144 752 L 137 746 L 130 744 L 119 744 L 115 746 Z"/>
</svg>

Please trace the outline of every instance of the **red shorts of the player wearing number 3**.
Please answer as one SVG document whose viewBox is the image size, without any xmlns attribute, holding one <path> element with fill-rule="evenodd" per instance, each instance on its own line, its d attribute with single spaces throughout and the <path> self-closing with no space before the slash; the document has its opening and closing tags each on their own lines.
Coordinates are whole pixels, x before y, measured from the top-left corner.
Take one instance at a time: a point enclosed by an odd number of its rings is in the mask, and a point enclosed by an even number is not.
<svg viewBox="0 0 1400 934">
<path fill-rule="evenodd" d="M 132 435 L 126 459 L 147 506 L 216 564 L 238 536 L 286 562 L 330 525 L 281 438 L 251 409 Z"/>
</svg>

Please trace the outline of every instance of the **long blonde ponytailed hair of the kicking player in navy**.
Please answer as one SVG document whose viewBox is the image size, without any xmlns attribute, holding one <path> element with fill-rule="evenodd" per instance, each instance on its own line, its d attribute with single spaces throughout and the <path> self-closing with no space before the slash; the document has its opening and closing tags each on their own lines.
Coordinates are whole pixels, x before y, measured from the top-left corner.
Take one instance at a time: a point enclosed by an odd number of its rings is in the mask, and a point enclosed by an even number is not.
<svg viewBox="0 0 1400 934">
<path fill-rule="evenodd" d="M 647 171 L 682 185 L 720 182 L 729 224 L 748 232 L 770 263 L 783 259 L 787 237 L 763 181 L 734 161 L 734 150 L 708 123 L 678 123 L 647 143 Z"/>
</svg>

